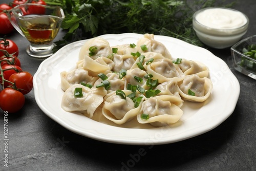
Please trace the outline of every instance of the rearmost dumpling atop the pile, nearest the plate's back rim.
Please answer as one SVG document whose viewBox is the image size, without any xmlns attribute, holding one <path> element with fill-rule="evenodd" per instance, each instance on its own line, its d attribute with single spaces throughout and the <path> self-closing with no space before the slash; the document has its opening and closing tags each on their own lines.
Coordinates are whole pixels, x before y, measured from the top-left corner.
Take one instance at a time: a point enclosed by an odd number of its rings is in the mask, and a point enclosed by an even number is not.
<svg viewBox="0 0 256 171">
<path fill-rule="evenodd" d="M 147 47 L 146 51 L 141 49 L 142 45 Z M 144 34 L 144 36 L 137 41 L 137 49 L 140 53 L 157 52 L 162 54 L 165 58 L 172 59 L 172 55 L 170 55 L 166 47 L 161 42 L 154 39 L 154 34 Z"/>
</svg>

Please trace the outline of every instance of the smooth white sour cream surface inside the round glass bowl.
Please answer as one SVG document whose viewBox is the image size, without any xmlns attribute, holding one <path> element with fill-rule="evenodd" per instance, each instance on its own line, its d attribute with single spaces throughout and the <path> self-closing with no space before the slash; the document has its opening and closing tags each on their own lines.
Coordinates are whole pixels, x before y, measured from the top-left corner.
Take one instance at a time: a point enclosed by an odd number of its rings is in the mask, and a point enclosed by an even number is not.
<svg viewBox="0 0 256 171">
<path fill-rule="evenodd" d="M 235 29 L 244 26 L 247 18 L 240 11 L 226 8 L 209 8 L 196 15 L 196 20 L 209 28 Z"/>
</svg>

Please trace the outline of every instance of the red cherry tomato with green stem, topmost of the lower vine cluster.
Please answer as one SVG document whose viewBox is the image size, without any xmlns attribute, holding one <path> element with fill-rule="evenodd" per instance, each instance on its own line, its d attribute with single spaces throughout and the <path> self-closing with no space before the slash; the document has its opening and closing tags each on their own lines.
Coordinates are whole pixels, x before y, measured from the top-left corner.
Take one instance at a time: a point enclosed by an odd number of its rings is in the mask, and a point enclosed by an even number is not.
<svg viewBox="0 0 256 171">
<path fill-rule="evenodd" d="M 9 54 L 14 54 L 18 56 L 18 46 L 11 39 L 2 38 L 0 41 L 0 49 L 6 50 Z M 3 52 L 0 51 L 0 57 L 4 55 Z"/>
</svg>

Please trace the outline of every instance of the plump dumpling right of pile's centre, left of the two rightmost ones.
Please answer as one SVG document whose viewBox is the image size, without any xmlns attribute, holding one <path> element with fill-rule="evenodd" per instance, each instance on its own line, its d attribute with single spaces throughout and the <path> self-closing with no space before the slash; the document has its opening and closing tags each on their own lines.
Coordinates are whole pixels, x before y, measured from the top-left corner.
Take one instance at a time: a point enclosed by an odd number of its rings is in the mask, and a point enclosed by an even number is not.
<svg viewBox="0 0 256 171">
<path fill-rule="evenodd" d="M 184 73 L 180 68 L 174 66 L 173 61 L 167 58 L 154 60 L 147 65 L 146 71 L 153 75 L 152 79 L 158 79 L 159 83 L 172 79 L 180 81 L 184 78 Z"/>
</svg>

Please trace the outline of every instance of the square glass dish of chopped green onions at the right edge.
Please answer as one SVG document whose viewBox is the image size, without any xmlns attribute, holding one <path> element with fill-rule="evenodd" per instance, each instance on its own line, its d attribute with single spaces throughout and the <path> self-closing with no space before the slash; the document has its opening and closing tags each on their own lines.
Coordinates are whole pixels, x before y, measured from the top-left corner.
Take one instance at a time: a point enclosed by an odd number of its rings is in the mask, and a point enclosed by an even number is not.
<svg viewBox="0 0 256 171">
<path fill-rule="evenodd" d="M 247 37 L 231 47 L 231 56 L 234 69 L 256 79 L 256 57 L 253 59 L 243 54 L 243 50 L 248 50 L 248 46 L 256 45 L 256 35 Z"/>
</svg>

